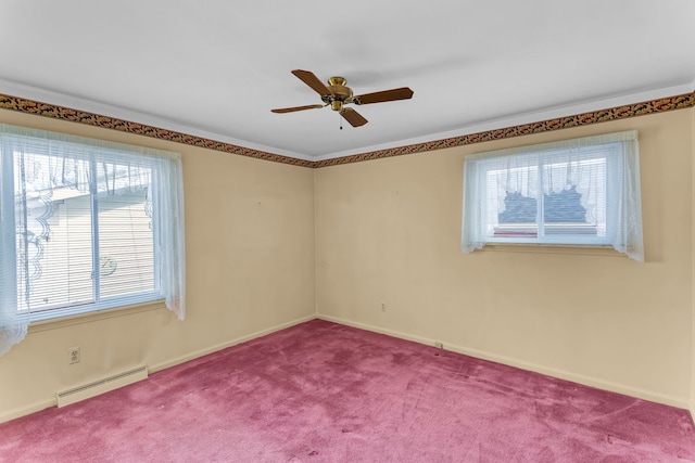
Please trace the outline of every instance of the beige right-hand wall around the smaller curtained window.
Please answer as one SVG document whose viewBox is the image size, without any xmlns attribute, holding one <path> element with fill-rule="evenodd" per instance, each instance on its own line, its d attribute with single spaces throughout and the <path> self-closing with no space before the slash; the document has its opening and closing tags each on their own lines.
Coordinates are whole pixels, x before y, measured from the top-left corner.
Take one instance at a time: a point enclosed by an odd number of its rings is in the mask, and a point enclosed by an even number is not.
<svg viewBox="0 0 695 463">
<path fill-rule="evenodd" d="M 604 249 L 459 252 L 467 154 L 628 129 L 640 131 L 646 263 Z M 681 110 L 319 169 L 318 314 L 686 408 L 694 130 Z"/>
</svg>

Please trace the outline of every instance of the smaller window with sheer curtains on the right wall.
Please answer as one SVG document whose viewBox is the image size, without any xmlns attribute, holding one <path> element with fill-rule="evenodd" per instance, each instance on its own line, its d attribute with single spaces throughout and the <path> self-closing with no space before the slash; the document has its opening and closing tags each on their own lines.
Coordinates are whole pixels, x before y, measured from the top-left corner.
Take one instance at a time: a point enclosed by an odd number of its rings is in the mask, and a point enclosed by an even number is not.
<svg viewBox="0 0 695 463">
<path fill-rule="evenodd" d="M 610 245 L 644 260 L 636 131 L 471 155 L 462 249 Z"/>
</svg>

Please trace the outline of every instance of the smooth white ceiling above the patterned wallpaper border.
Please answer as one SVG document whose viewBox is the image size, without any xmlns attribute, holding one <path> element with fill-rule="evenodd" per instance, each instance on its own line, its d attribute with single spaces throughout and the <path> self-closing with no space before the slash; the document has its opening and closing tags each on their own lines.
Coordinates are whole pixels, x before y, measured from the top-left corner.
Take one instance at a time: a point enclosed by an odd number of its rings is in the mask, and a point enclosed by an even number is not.
<svg viewBox="0 0 695 463">
<path fill-rule="evenodd" d="M 302 159 L 692 92 L 693 0 L 2 0 L 0 93 Z M 338 75 L 353 128 L 290 70 Z"/>
</svg>

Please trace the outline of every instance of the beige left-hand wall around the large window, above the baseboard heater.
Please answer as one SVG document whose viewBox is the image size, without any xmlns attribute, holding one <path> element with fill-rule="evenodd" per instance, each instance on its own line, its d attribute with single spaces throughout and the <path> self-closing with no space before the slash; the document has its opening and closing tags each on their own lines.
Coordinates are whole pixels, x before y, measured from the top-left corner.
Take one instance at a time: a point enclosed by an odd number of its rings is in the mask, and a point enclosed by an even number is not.
<svg viewBox="0 0 695 463">
<path fill-rule="evenodd" d="M 0 422 L 137 364 L 161 369 L 315 314 L 314 170 L 0 111 L 0 123 L 182 154 L 187 319 L 160 305 L 30 327 L 0 357 Z M 68 365 L 67 349 L 81 347 Z"/>
</svg>

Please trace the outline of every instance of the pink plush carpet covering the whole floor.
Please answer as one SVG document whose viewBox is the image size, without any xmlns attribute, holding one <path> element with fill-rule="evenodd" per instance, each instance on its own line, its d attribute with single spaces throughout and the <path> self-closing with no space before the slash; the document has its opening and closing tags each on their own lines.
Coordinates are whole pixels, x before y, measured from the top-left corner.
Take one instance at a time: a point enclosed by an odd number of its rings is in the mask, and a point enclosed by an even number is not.
<svg viewBox="0 0 695 463">
<path fill-rule="evenodd" d="M 680 409 L 315 320 L 0 425 L 2 462 L 695 461 Z"/>
</svg>

